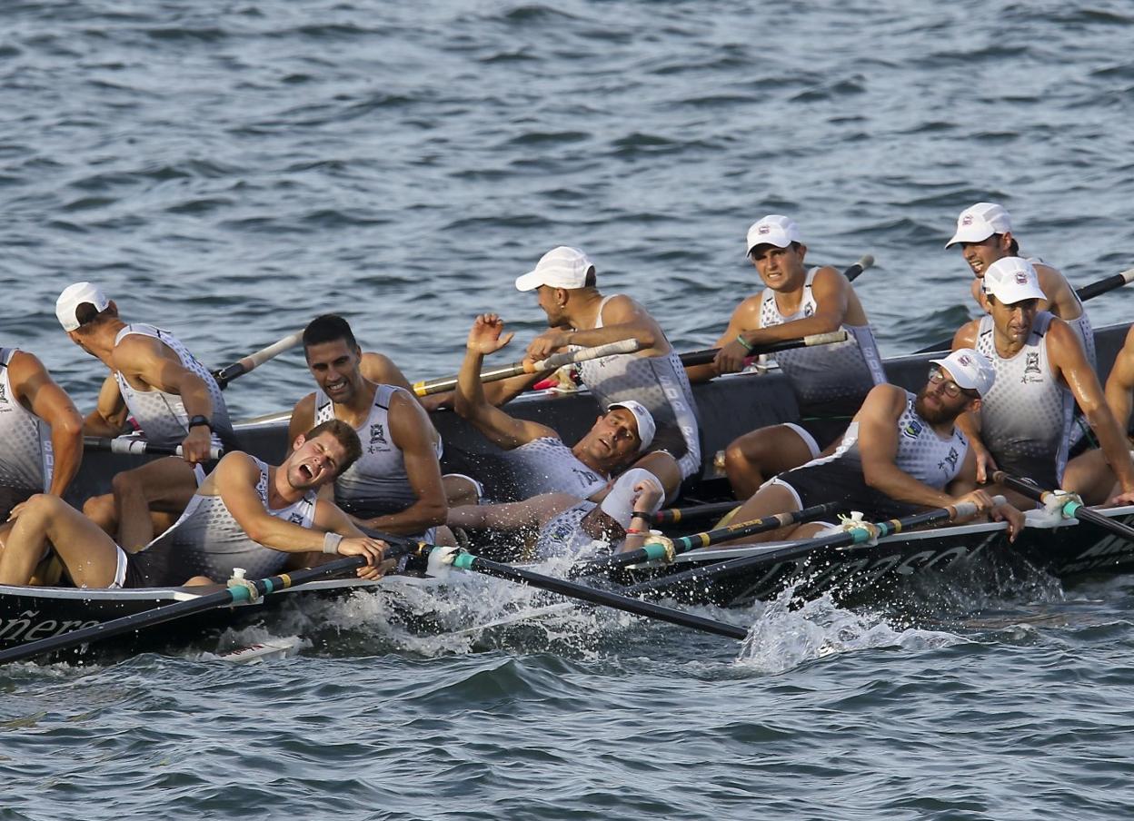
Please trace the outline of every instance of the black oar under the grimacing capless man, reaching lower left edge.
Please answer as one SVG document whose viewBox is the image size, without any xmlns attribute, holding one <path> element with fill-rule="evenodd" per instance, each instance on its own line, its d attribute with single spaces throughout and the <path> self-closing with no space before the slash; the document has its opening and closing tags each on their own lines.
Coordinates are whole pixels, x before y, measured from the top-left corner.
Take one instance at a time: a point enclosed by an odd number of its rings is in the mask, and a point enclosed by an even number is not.
<svg viewBox="0 0 1134 821">
<path fill-rule="evenodd" d="M 415 545 L 408 544 L 391 544 L 390 549 L 386 551 L 386 556 L 387 558 L 404 556 L 413 552 L 414 547 Z M 316 578 L 323 578 L 324 576 L 333 576 L 339 573 L 346 573 L 347 570 L 354 570 L 365 564 L 365 557 L 347 556 L 342 559 L 336 559 L 335 561 L 329 561 L 325 565 L 320 565 L 319 567 L 295 570 L 294 573 L 281 573 L 278 576 L 269 576 L 266 578 L 257 578 L 255 581 L 247 579 L 247 585 L 235 585 L 220 592 L 201 595 L 188 601 L 178 601 L 172 604 L 154 608 L 153 610 L 146 610 L 145 612 L 134 613 L 133 616 L 124 616 L 122 618 L 103 621 L 98 625 L 92 625 L 91 627 L 84 627 L 70 633 L 62 633 L 58 636 L 50 636 L 48 638 L 41 638 L 35 642 L 28 642 L 16 648 L 2 650 L 0 651 L 0 663 L 31 659 L 35 655 L 58 652 L 60 650 L 69 650 L 70 648 L 76 648 L 79 644 L 102 641 L 103 638 L 118 636 L 122 633 L 137 632 L 146 627 L 152 627 L 154 625 L 160 625 L 178 618 L 185 618 L 198 612 L 249 602 L 259 596 L 278 593 L 279 591 L 287 590 L 288 587 L 296 587 L 305 582 L 312 582 Z M 253 595 L 253 589 L 256 591 L 255 595 Z"/>
</svg>

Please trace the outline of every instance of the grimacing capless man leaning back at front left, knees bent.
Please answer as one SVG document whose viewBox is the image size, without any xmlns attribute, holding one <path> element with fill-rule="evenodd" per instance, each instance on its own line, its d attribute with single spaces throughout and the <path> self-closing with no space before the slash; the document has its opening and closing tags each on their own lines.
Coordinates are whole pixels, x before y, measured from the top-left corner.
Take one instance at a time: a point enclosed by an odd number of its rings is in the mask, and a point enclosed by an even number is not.
<svg viewBox="0 0 1134 821">
<path fill-rule="evenodd" d="M 363 578 L 381 575 L 386 543 L 359 531 L 318 490 L 358 458 L 350 425 L 331 420 L 291 445 L 282 465 L 234 451 L 209 474 L 181 517 L 141 551 L 127 553 L 58 497 L 16 507 L 0 555 L 0 584 L 28 584 L 49 543 L 78 587 L 162 587 L 279 573 L 291 553 L 364 556 Z"/>
</svg>

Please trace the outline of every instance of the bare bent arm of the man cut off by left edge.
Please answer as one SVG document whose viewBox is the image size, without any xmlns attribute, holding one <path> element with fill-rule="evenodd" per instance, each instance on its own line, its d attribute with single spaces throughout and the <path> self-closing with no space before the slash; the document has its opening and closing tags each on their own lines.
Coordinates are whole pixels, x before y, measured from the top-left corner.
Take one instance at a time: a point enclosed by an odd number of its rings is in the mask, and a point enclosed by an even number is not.
<svg viewBox="0 0 1134 821">
<path fill-rule="evenodd" d="M 83 417 L 35 356 L 18 352 L 8 364 L 18 401 L 51 428 L 54 467 L 48 492 L 62 496 L 83 463 Z"/>
</svg>

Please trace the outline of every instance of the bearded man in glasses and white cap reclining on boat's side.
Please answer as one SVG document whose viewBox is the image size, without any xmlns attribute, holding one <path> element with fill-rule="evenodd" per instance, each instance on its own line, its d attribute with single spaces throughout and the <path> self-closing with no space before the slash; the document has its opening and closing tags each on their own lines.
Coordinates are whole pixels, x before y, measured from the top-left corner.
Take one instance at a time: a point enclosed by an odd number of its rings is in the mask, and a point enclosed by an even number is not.
<svg viewBox="0 0 1134 821">
<path fill-rule="evenodd" d="M 871 389 L 828 457 L 768 481 L 735 516 L 748 522 L 787 510 L 836 501 L 869 522 L 909 516 L 926 508 L 973 502 L 978 514 L 1007 519 L 1014 539 L 1024 516 L 1010 505 L 993 506 L 976 486 L 976 462 L 957 417 L 981 407 L 992 389 L 991 363 L 972 348 L 932 359 L 929 380 L 917 395 L 892 384 Z M 780 528 L 753 539 L 806 539 L 828 523 Z"/>
</svg>

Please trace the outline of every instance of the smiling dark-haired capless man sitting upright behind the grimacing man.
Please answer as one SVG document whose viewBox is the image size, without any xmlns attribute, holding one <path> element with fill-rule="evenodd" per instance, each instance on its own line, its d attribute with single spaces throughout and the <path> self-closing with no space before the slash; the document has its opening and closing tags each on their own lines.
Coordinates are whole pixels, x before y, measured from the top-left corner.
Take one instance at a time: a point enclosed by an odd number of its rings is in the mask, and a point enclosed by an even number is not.
<svg viewBox="0 0 1134 821">
<path fill-rule="evenodd" d="M 341 316 L 312 320 L 303 348 L 318 388 L 296 404 L 289 435 L 337 418 L 363 443 L 362 457 L 335 481 L 335 503 L 359 526 L 434 541 L 448 507 L 441 437 L 429 415 L 409 391 L 362 375 L 362 350 Z"/>
</svg>

